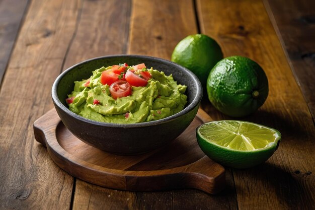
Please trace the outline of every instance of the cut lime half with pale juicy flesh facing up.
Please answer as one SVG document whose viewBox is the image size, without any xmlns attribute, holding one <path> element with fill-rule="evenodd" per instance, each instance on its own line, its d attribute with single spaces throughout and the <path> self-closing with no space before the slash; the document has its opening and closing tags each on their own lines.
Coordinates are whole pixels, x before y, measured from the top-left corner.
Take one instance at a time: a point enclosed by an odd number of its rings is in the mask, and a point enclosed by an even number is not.
<svg viewBox="0 0 315 210">
<path fill-rule="evenodd" d="M 281 141 L 278 130 L 235 120 L 212 121 L 196 129 L 201 150 L 212 160 L 233 168 L 265 162 Z"/>
</svg>

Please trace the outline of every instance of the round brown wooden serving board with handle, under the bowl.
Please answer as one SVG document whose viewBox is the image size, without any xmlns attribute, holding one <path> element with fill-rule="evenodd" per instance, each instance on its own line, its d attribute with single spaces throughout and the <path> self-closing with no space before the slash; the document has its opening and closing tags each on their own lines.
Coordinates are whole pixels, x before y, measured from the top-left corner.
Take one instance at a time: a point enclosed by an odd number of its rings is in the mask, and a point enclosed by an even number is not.
<svg viewBox="0 0 315 210">
<path fill-rule="evenodd" d="M 34 122 L 34 133 L 61 169 L 87 182 L 122 190 L 196 188 L 215 194 L 225 186 L 225 170 L 204 155 L 195 132 L 207 121 L 211 118 L 199 109 L 174 141 L 137 156 L 113 155 L 83 143 L 63 125 L 55 109 Z"/>
</svg>

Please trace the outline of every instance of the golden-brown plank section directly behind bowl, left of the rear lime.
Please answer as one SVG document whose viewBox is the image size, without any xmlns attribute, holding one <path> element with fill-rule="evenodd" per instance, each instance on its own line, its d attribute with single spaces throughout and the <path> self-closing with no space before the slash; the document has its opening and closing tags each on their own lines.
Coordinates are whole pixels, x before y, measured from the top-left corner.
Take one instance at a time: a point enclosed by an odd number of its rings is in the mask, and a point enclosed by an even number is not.
<svg viewBox="0 0 315 210">
<path fill-rule="evenodd" d="M 170 60 L 177 43 L 197 33 L 193 0 L 134 0 L 132 9 L 129 54 Z M 145 11 L 145 16 L 138 11 Z"/>
</svg>

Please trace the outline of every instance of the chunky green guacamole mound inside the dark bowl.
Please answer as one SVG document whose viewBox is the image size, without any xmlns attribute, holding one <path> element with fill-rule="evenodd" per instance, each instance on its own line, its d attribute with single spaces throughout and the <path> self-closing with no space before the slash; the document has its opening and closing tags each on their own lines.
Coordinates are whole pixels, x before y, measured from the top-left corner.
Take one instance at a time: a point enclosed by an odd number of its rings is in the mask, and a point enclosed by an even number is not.
<svg viewBox="0 0 315 210">
<path fill-rule="evenodd" d="M 74 90 L 66 100 L 69 109 L 88 119 L 110 123 L 138 123 L 158 120 L 184 109 L 187 103 L 187 96 L 184 94 L 187 87 L 177 85 L 172 75 L 166 76 L 163 72 L 152 67 L 147 69 L 144 64 L 144 67 L 141 65 L 143 68 L 137 70 L 138 75 L 135 74 L 136 66 L 128 66 L 127 64 L 120 64 L 120 66 L 125 69 L 120 74 L 117 71 L 114 72 L 114 65 L 101 67 L 96 69 L 89 79 L 74 82 Z M 136 87 L 130 85 L 133 84 L 132 82 L 130 84 L 126 82 L 128 78 L 125 78 L 125 75 L 128 75 L 128 71 L 141 79 L 146 79 L 146 85 Z M 109 72 L 109 76 L 114 78 L 117 75 L 118 79 L 115 80 L 118 81 L 116 83 L 121 84 L 119 82 L 121 81 L 124 82 L 124 85 L 116 85 L 116 88 L 114 84 L 114 87 L 109 85 L 110 82 L 106 82 L 103 78 L 104 75 L 106 76 L 104 73 L 107 72 Z M 132 76 L 134 77 L 134 75 Z M 112 91 L 119 92 L 121 87 L 125 91 L 129 86 L 128 96 L 116 96 L 114 99 Z"/>
</svg>

